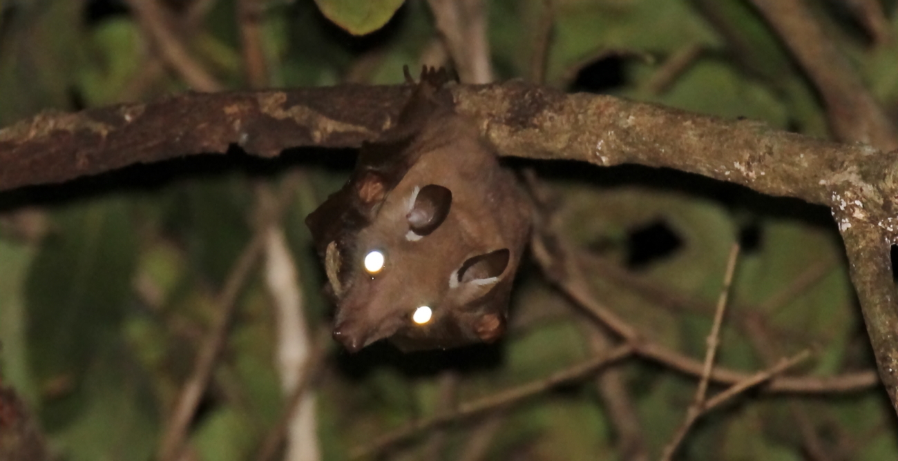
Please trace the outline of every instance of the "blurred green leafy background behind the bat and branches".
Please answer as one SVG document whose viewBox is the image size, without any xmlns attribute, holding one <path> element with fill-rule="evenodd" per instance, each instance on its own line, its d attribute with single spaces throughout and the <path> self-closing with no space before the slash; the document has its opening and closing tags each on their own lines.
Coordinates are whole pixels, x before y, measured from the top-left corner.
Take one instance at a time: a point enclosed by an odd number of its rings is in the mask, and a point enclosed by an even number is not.
<svg viewBox="0 0 898 461">
<path fill-rule="evenodd" d="M 248 86 L 236 0 L 159 3 L 198 65 L 227 88 Z M 807 2 L 896 114 L 898 45 L 874 43 L 850 3 Z M 423 1 L 259 4 L 270 86 L 401 83 L 402 65 L 415 68 L 439 43 Z M 544 83 L 551 87 L 826 135 L 814 88 L 743 0 L 487 4 L 500 80 L 531 75 L 541 46 L 535 30 L 549 17 Z M 898 32 L 894 0 L 881 5 Z M 334 22 L 374 32 L 357 37 Z M 189 91 L 157 51 L 124 0 L 2 0 L 0 126 L 44 109 Z M 671 73 L 666 64 L 678 56 L 690 58 Z M 59 459 L 154 457 L 193 352 L 214 324 L 218 292 L 251 239 L 259 183 L 302 178 L 283 222 L 304 315 L 313 328 L 328 324 L 324 276 L 303 219 L 340 186 L 352 161 L 353 152 L 306 150 L 261 161 L 234 150 L 0 193 L 0 376 L 38 414 Z M 730 246 L 740 242 L 719 364 L 753 372 L 770 365 L 765 357 L 811 347 L 814 360 L 801 373 L 874 367 L 828 210 L 670 170 L 512 163 L 536 170 L 558 196 L 560 229 L 594 262 L 587 269 L 595 296 L 654 341 L 702 357 L 713 317 L 705 308 L 717 300 Z M 636 284 L 603 275 L 599 269 L 608 266 L 691 300 L 690 308 L 672 309 Z M 282 412 L 274 314 L 260 274 L 238 302 L 225 353 L 190 427 L 194 459 L 251 459 Z M 512 316 L 498 344 L 458 351 L 402 355 L 375 344 L 348 355 L 328 344 L 315 387 L 323 459 L 346 459 L 385 431 L 434 414 L 445 405 L 446 373 L 458 377 L 454 394 L 463 402 L 544 378 L 592 353 L 591 324 L 536 265 L 525 264 L 519 275 Z M 682 422 L 696 379 L 638 360 L 615 370 L 657 457 Z M 810 434 L 798 430 L 796 412 Z M 481 459 L 628 459 L 594 380 L 543 393 L 491 420 L 452 425 L 442 434 L 440 459 L 461 459 L 488 424 L 493 432 Z M 842 396 L 749 393 L 702 420 L 681 457 L 817 459 L 811 440 L 823 444 L 828 459 L 898 459 L 896 434 L 898 422 L 878 387 Z M 427 458 L 433 437 L 385 457 Z"/>
</svg>

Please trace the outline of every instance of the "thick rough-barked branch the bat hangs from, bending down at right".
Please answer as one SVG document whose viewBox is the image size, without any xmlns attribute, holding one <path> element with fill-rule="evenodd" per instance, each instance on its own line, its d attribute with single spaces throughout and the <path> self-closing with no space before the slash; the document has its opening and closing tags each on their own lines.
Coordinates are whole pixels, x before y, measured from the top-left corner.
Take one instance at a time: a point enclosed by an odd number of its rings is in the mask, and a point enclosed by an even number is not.
<svg viewBox="0 0 898 461">
<path fill-rule="evenodd" d="M 44 112 L 0 130 L 0 191 L 225 152 L 233 144 L 264 157 L 298 146 L 357 147 L 390 126 L 409 90 L 343 85 L 188 93 L 75 114 Z M 849 248 L 880 377 L 893 402 L 898 398 L 898 297 L 885 273 L 885 242 L 898 235 L 898 151 L 520 82 L 451 91 L 458 111 L 502 155 L 667 167 L 831 207 Z"/>
</svg>

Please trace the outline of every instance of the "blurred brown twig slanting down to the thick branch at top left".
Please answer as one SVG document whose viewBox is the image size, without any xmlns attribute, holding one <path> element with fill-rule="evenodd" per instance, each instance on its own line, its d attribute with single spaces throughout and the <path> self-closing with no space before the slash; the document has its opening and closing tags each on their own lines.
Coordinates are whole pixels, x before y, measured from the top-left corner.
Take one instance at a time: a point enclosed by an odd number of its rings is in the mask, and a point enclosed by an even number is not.
<svg viewBox="0 0 898 461">
<path fill-rule="evenodd" d="M 169 28 L 158 0 L 126 0 L 141 25 L 153 39 L 165 62 L 196 91 L 216 92 L 225 87 L 190 57 L 187 49 Z"/>
</svg>

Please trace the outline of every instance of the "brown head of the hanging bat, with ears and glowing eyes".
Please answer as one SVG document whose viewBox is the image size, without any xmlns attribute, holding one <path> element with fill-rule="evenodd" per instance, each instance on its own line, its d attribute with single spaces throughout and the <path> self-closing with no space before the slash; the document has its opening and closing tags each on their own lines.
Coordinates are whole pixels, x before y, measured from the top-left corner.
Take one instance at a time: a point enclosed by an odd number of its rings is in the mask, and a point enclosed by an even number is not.
<svg viewBox="0 0 898 461">
<path fill-rule="evenodd" d="M 408 351 L 491 342 L 503 333 L 511 249 L 471 235 L 458 205 L 444 185 L 403 180 L 343 250 L 348 255 L 330 258 L 350 265 L 330 274 L 354 274 L 338 280 L 335 293 L 334 337 L 349 351 L 386 337 Z"/>
</svg>

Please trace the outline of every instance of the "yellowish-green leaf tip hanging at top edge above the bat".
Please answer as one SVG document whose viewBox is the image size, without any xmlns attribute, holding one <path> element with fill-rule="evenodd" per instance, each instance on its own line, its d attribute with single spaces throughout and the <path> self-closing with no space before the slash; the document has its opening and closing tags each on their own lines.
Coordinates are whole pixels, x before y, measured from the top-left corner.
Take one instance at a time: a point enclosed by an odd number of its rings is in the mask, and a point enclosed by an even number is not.
<svg viewBox="0 0 898 461">
<path fill-rule="evenodd" d="M 404 0 L 315 0 L 321 13 L 353 35 L 383 27 Z"/>
</svg>

